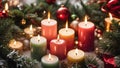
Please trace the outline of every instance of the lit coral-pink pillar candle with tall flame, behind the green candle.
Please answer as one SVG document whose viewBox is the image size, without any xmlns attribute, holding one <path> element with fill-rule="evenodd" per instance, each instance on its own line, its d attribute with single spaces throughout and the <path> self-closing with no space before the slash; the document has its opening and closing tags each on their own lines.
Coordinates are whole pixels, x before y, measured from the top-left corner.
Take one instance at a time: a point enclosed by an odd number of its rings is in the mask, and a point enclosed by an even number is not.
<svg viewBox="0 0 120 68">
<path fill-rule="evenodd" d="M 48 19 L 41 21 L 42 36 L 47 38 L 48 49 L 49 43 L 52 39 L 57 38 L 57 21 L 50 19 L 50 13 L 48 13 Z"/>
</svg>

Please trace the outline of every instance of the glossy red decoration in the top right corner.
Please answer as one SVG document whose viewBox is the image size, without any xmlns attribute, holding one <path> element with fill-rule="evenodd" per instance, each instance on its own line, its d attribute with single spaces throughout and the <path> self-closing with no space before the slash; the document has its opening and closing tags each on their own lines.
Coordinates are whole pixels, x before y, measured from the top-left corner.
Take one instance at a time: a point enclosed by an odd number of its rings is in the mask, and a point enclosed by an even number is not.
<svg viewBox="0 0 120 68">
<path fill-rule="evenodd" d="M 104 12 L 110 12 L 113 16 L 120 18 L 120 0 L 109 0 L 101 9 Z"/>
</svg>

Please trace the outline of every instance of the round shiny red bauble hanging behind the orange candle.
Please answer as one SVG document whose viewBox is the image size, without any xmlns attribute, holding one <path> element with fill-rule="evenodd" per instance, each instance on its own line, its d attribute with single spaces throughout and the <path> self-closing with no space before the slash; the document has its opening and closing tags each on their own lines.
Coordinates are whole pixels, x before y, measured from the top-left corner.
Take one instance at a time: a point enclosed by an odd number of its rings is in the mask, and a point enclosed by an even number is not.
<svg viewBox="0 0 120 68">
<path fill-rule="evenodd" d="M 68 17 L 70 16 L 70 12 L 66 7 L 61 6 L 57 10 L 56 16 L 59 20 L 66 21 L 68 19 Z"/>
</svg>

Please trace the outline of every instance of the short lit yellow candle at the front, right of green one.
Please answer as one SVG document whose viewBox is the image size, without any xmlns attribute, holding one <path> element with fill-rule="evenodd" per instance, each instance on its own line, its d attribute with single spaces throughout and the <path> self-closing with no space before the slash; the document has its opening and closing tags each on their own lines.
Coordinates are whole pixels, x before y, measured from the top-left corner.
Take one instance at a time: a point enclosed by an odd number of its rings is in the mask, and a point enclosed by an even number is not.
<svg viewBox="0 0 120 68">
<path fill-rule="evenodd" d="M 83 62 L 85 58 L 85 53 L 79 49 L 72 49 L 67 54 L 67 60 L 70 63 Z"/>
</svg>

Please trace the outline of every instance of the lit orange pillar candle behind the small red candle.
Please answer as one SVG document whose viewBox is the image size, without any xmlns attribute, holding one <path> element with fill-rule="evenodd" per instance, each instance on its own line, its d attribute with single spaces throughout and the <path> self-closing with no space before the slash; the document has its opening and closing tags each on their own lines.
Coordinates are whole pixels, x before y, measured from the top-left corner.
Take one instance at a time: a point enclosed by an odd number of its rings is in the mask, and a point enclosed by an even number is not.
<svg viewBox="0 0 120 68">
<path fill-rule="evenodd" d="M 68 28 L 68 22 L 66 22 L 66 28 L 59 30 L 59 35 L 61 39 L 64 39 L 67 43 L 67 51 L 74 48 L 74 36 L 75 31 L 71 28 Z"/>
</svg>

